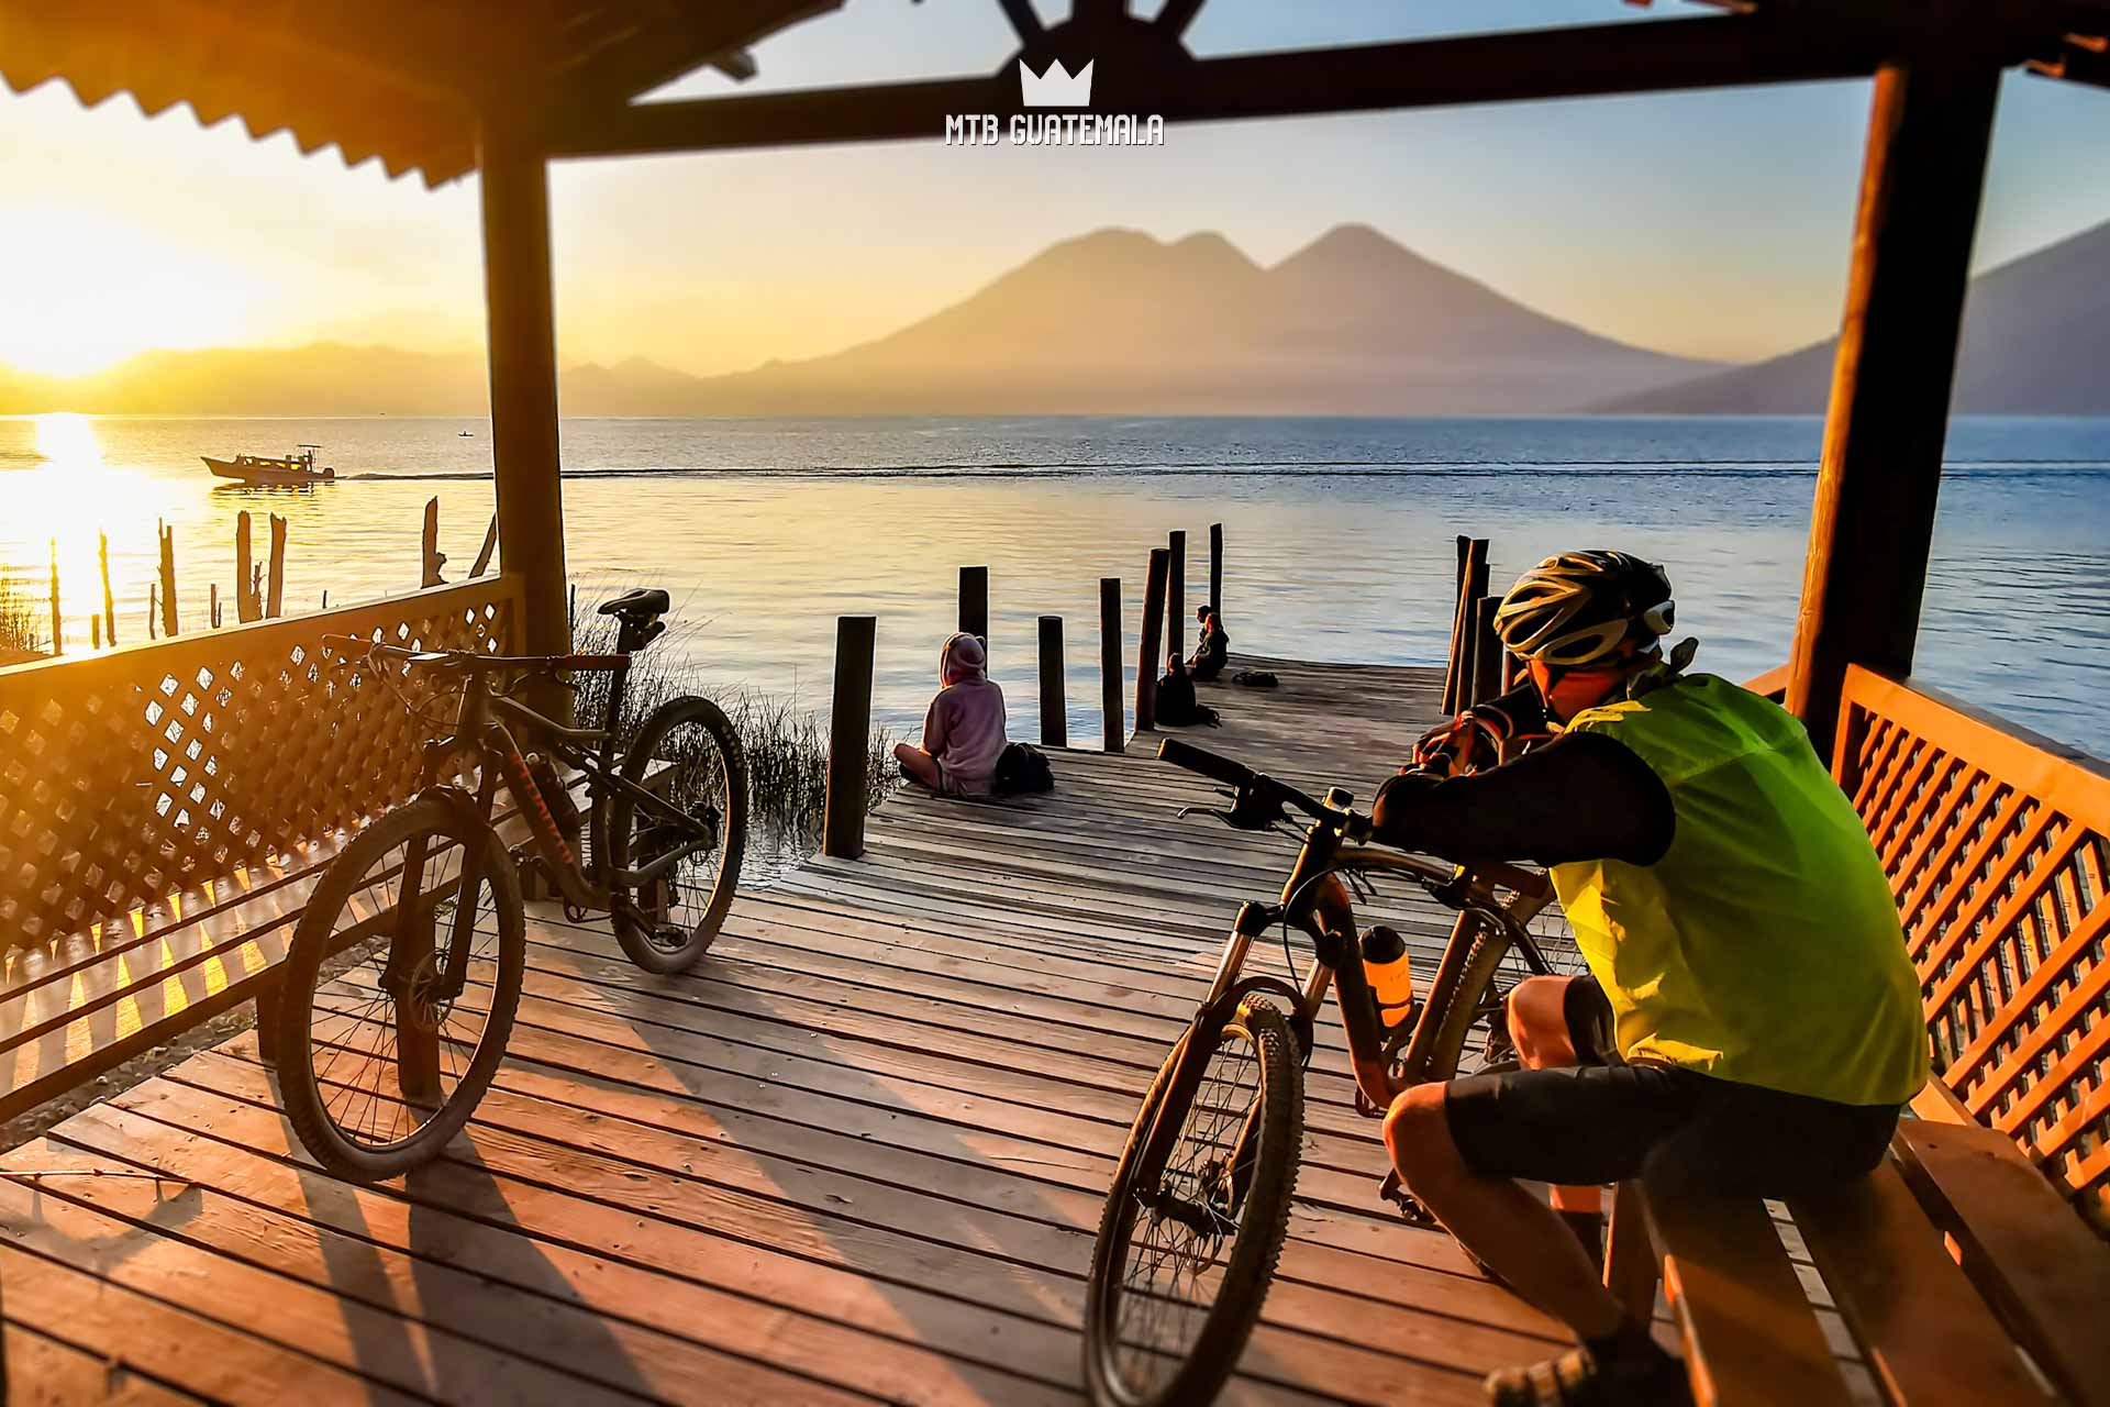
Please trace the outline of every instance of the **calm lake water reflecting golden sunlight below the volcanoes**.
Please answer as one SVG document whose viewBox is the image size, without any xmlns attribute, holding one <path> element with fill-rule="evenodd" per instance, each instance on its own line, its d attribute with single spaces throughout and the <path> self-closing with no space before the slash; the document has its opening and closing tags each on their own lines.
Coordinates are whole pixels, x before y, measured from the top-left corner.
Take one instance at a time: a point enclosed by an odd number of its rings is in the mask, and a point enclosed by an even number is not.
<svg viewBox="0 0 2110 1407">
<path fill-rule="evenodd" d="M 464 437 L 462 430 L 468 430 Z M 340 483 L 219 487 L 200 454 L 323 445 Z M 1492 538 L 1507 584 L 1564 546 L 1665 561 L 1705 669 L 1781 662 L 1794 627 L 1819 422 L 1768 420 L 568 420 L 570 574 L 584 610 L 667 586 L 667 645 L 724 688 L 825 709 L 838 614 L 880 618 L 876 711 L 909 732 L 954 624 L 960 565 L 990 567 L 992 662 L 1013 734 L 1038 736 L 1034 622 L 1068 622 L 1070 736 L 1095 740 L 1097 582 L 1120 576 L 1133 673 L 1152 546 L 1228 540 L 1234 650 L 1439 662 L 1452 538 Z M 234 517 L 291 521 L 287 610 L 416 589 L 422 508 L 447 578 L 492 515 L 481 420 L 0 420 L 0 563 L 42 601 L 57 540 L 70 648 L 110 536 L 118 633 L 143 639 L 154 523 L 175 527 L 184 629 L 219 584 Z M 1192 639 L 1192 631 L 1188 633 Z M 2110 694 L 2110 420 L 1964 418 L 1950 432 L 1920 675 L 2102 755 Z"/>
</svg>

